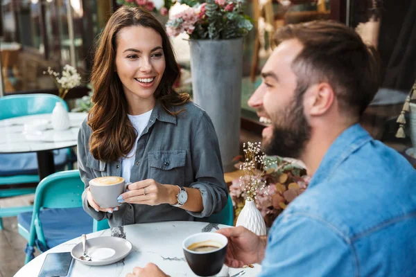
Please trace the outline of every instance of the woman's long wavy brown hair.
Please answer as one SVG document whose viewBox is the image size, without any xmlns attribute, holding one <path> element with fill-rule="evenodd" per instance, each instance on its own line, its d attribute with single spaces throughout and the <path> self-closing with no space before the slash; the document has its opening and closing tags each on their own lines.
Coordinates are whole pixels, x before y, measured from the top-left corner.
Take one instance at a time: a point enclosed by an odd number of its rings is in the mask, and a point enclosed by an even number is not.
<svg viewBox="0 0 416 277">
<path fill-rule="evenodd" d="M 189 94 L 178 93 L 173 89 L 180 71 L 171 42 L 162 24 L 150 12 L 141 8 L 123 6 L 116 10 L 96 44 L 91 76 L 94 107 L 89 111 L 88 116 L 88 125 L 92 128 L 89 151 L 100 161 L 116 161 L 126 157 L 137 138 L 135 128 L 127 116 L 128 103 L 114 66 L 117 34 L 122 28 L 129 26 L 152 28 L 162 37 L 166 69 L 155 91 L 156 100 L 160 100 L 164 109 L 172 116 L 179 114 L 180 111 L 172 112 L 169 107 L 189 101 Z"/>
</svg>

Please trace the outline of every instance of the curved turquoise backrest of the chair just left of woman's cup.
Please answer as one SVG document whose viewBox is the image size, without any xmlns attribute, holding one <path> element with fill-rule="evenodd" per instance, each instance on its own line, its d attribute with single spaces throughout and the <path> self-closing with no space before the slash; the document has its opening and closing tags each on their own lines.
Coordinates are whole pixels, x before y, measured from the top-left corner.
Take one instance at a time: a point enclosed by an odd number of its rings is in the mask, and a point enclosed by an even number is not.
<svg viewBox="0 0 416 277">
<path fill-rule="evenodd" d="M 37 185 L 33 211 L 39 213 L 40 208 L 82 207 L 84 187 L 78 170 L 53 173 Z"/>
</svg>

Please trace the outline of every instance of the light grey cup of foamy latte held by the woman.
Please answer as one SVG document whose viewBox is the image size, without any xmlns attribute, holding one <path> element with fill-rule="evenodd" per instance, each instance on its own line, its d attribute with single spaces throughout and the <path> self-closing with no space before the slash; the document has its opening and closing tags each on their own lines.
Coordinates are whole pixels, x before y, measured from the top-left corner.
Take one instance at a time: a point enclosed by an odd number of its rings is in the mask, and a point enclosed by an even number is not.
<svg viewBox="0 0 416 277">
<path fill-rule="evenodd" d="M 118 176 L 98 177 L 89 180 L 89 190 L 100 208 L 114 208 L 120 205 L 117 197 L 125 192 L 129 184 Z"/>
</svg>

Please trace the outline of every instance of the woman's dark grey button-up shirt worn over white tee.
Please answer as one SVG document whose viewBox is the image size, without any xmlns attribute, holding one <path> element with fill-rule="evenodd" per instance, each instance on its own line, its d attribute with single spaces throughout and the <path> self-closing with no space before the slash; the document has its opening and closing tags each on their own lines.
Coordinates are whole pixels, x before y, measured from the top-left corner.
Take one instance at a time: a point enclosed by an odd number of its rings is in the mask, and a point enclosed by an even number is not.
<svg viewBox="0 0 416 277">
<path fill-rule="evenodd" d="M 137 141 L 135 163 L 130 181 L 155 179 L 160 184 L 197 188 L 202 195 L 203 211 L 193 213 L 169 204 L 148 206 L 122 204 L 119 211 L 96 212 L 83 193 L 83 207 L 96 220 L 108 218 L 110 226 L 169 220 L 193 221 L 220 212 L 227 204 L 220 149 L 214 125 L 207 113 L 193 102 L 171 107 L 185 109 L 177 116 L 168 114 L 157 101 L 149 123 Z M 105 163 L 89 152 L 92 129 L 84 121 L 78 134 L 78 168 L 85 188 L 89 180 L 102 176 L 121 176 L 121 159 Z M 118 197 L 119 195 L 116 195 Z"/>
</svg>

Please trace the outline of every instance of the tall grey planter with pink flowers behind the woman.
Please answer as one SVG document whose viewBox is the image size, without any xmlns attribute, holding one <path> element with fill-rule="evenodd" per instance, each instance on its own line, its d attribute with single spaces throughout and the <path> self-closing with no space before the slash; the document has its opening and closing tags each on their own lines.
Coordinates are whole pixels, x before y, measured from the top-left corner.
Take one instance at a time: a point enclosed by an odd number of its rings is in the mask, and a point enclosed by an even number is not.
<svg viewBox="0 0 416 277">
<path fill-rule="evenodd" d="M 193 100 L 211 117 L 225 171 L 239 154 L 243 37 L 252 29 L 244 0 L 187 0 L 166 24 L 189 35 Z M 182 4 L 184 5 L 184 4 Z"/>
</svg>

